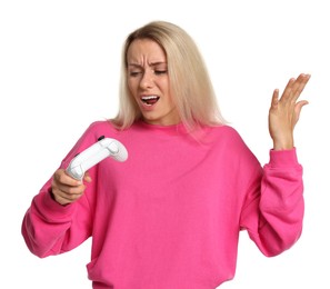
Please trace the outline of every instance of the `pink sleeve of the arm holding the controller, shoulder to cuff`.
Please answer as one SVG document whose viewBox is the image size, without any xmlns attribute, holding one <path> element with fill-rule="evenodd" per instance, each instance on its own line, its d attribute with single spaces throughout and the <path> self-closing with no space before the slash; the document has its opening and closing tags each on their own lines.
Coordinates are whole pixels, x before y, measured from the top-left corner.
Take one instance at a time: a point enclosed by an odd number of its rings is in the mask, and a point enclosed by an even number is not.
<svg viewBox="0 0 330 289">
<path fill-rule="evenodd" d="M 59 168 L 67 168 L 70 160 L 94 143 L 99 131 L 91 124 L 73 148 L 61 161 Z M 74 203 L 61 206 L 51 198 L 52 177 L 33 197 L 22 221 L 22 236 L 30 251 L 38 257 L 47 257 L 72 250 L 91 236 L 93 199 L 97 177 L 94 168 L 90 170 L 93 182 Z"/>
</svg>

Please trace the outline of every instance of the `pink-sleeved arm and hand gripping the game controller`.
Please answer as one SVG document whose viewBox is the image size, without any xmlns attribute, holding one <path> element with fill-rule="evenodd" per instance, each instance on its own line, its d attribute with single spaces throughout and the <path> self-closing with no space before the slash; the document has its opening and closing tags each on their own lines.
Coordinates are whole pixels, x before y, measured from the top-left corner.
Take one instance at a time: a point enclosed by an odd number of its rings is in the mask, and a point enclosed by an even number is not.
<svg viewBox="0 0 330 289">
<path fill-rule="evenodd" d="M 83 181 L 67 175 L 70 160 L 93 143 L 98 130 L 91 126 L 63 159 L 60 168 L 34 196 L 22 220 L 21 231 L 32 253 L 47 257 L 69 251 L 91 236 L 94 170 Z M 90 183 L 88 183 L 90 182 Z"/>
</svg>

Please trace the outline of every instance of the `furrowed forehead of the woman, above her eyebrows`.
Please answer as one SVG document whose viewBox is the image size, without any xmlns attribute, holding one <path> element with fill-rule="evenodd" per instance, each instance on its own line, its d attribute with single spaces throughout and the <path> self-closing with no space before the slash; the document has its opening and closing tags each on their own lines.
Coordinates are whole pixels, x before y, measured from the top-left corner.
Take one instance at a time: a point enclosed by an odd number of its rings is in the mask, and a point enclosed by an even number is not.
<svg viewBox="0 0 330 289">
<path fill-rule="evenodd" d="M 129 63 L 137 62 L 166 62 L 166 53 L 160 44 L 151 39 L 134 40 L 127 51 L 127 60 Z"/>
</svg>

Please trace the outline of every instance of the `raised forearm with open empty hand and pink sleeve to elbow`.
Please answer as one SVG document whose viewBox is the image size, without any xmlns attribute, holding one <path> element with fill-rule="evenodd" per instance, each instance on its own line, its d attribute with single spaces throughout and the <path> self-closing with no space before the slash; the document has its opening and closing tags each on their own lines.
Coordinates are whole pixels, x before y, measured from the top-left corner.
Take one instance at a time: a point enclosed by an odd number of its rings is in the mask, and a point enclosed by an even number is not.
<svg viewBox="0 0 330 289">
<path fill-rule="evenodd" d="M 273 149 L 261 183 L 258 177 L 251 181 L 241 215 L 241 227 L 266 256 L 289 249 L 302 231 L 302 167 L 297 160 L 293 129 L 308 103 L 297 100 L 309 79 L 309 74 L 290 79 L 280 99 L 274 90 L 269 110 Z"/>
</svg>

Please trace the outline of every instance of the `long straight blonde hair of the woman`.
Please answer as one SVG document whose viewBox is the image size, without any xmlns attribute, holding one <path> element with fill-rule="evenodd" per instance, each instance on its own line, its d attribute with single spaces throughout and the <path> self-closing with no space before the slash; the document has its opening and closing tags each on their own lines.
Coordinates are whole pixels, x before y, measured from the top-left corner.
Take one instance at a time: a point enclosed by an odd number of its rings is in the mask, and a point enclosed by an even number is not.
<svg viewBox="0 0 330 289">
<path fill-rule="evenodd" d="M 123 44 L 119 112 L 112 120 L 118 128 L 127 129 L 142 117 L 127 82 L 127 52 L 137 39 L 150 39 L 163 49 L 168 61 L 171 96 L 182 123 L 189 130 L 199 126 L 226 123 L 218 108 L 206 64 L 192 38 L 176 24 L 153 21 L 131 32 Z"/>
</svg>

